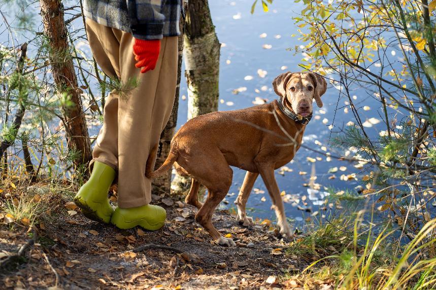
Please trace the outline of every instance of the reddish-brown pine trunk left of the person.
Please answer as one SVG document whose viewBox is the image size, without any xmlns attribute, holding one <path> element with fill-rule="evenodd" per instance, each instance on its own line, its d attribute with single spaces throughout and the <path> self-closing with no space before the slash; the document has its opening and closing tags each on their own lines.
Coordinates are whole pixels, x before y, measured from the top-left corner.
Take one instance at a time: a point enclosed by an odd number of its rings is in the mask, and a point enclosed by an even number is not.
<svg viewBox="0 0 436 290">
<path fill-rule="evenodd" d="M 73 59 L 68 46 L 67 31 L 60 0 L 40 0 L 44 33 L 50 46 L 52 74 L 59 93 L 67 93 L 71 106 L 63 107 L 65 133 L 69 150 L 79 150 L 81 158 L 74 160 L 76 167 L 86 165 L 92 158 L 91 143 L 80 98 Z"/>
</svg>

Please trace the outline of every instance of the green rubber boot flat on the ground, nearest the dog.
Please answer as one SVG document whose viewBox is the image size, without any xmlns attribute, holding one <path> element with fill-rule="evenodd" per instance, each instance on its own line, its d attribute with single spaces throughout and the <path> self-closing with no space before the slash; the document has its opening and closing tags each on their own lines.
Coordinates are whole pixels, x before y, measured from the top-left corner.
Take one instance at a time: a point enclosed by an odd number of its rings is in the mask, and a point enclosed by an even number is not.
<svg viewBox="0 0 436 290">
<path fill-rule="evenodd" d="M 115 208 L 111 223 L 119 229 L 131 229 L 140 226 L 149 231 L 163 227 L 166 211 L 157 205 L 143 205 L 132 208 Z"/>
</svg>

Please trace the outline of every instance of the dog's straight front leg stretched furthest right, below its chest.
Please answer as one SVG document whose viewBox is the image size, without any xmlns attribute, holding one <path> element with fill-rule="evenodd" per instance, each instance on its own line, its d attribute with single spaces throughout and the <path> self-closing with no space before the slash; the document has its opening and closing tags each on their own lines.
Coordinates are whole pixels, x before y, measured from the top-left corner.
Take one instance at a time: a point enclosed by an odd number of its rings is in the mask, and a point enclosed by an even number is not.
<svg viewBox="0 0 436 290">
<path fill-rule="evenodd" d="M 280 227 L 280 234 L 286 238 L 291 238 L 292 233 L 285 215 L 285 206 L 280 196 L 279 186 L 274 176 L 274 166 L 268 163 L 257 163 L 257 169 L 262 176 L 266 189 L 273 200 L 273 208 L 277 215 L 277 224 Z"/>
</svg>

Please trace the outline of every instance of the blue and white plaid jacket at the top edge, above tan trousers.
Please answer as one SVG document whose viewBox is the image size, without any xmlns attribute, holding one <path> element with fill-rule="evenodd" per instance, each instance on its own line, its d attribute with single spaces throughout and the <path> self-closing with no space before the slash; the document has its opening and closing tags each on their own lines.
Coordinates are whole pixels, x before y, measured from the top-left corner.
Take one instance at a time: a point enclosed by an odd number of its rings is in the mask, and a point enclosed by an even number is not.
<svg viewBox="0 0 436 290">
<path fill-rule="evenodd" d="M 180 0 L 83 1 L 85 17 L 130 32 L 133 37 L 142 40 L 179 35 L 181 8 Z"/>
</svg>

